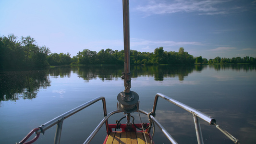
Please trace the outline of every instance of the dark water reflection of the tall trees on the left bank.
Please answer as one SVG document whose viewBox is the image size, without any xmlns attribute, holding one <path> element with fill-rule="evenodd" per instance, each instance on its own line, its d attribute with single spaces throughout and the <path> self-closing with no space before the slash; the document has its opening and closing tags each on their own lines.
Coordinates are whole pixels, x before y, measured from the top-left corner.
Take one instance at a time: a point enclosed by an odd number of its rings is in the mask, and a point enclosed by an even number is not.
<svg viewBox="0 0 256 144">
<path fill-rule="evenodd" d="M 47 70 L 0 72 L 0 101 L 32 99 L 40 88 L 50 86 Z"/>
</svg>

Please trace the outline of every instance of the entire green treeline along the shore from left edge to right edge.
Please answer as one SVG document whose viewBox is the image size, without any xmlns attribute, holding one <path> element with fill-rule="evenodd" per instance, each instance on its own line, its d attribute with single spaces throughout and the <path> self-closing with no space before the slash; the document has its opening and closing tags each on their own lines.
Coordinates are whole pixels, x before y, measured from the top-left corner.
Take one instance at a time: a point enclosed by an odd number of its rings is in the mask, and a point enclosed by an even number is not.
<svg viewBox="0 0 256 144">
<path fill-rule="evenodd" d="M 215 59 L 203 59 L 193 57 L 180 48 L 179 52 L 164 51 L 163 47 L 156 48 L 154 52 L 140 52 L 130 50 L 130 62 L 132 65 L 155 65 L 155 64 L 216 64 L 216 63 L 256 63 L 253 57 L 236 57 L 232 59 L 216 57 Z M 116 64 L 123 65 L 124 50 L 101 49 L 98 53 L 89 49 L 79 51 L 71 58 L 69 53 L 50 53 L 46 46 L 36 45 L 34 38 L 30 36 L 21 37 L 10 34 L 0 36 L 0 69 L 27 69 L 43 68 L 49 65 L 69 64 Z"/>
</svg>

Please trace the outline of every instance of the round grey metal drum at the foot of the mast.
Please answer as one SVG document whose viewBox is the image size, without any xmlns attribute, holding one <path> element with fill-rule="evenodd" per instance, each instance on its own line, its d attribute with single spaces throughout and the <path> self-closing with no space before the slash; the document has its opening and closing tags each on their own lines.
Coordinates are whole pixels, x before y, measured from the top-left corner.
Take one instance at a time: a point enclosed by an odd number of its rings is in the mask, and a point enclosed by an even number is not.
<svg viewBox="0 0 256 144">
<path fill-rule="evenodd" d="M 137 110 L 139 95 L 134 91 L 130 93 L 121 92 L 117 96 L 118 108 L 124 113 L 131 113 Z"/>
</svg>

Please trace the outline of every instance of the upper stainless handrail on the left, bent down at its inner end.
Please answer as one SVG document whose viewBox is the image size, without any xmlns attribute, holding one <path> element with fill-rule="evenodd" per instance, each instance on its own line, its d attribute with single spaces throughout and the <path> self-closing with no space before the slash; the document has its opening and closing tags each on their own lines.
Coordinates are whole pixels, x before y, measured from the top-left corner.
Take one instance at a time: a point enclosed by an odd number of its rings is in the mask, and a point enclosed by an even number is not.
<svg viewBox="0 0 256 144">
<path fill-rule="evenodd" d="M 99 97 L 97 97 L 95 99 L 92 99 L 92 100 L 90 100 L 90 101 L 88 101 L 88 102 L 86 102 L 86 103 L 84 103 L 84 104 L 82 104 L 82 105 L 80 105 L 80 106 L 78 106 L 76 108 L 73 108 L 70 111 L 65 112 L 62 115 L 60 115 L 60 116 L 58 116 L 58 117 L 56 117 L 56 118 L 46 122 L 45 124 L 39 126 L 40 130 L 38 130 L 36 133 L 40 133 L 40 132 L 43 133 L 43 132 L 45 132 L 46 130 L 48 130 L 49 128 L 54 126 L 55 124 L 61 122 L 64 119 L 67 119 L 68 117 L 72 116 L 73 114 L 75 114 L 75 113 L 79 112 L 80 110 L 82 110 L 82 109 L 84 109 L 84 108 L 86 108 L 86 107 L 88 107 L 88 106 L 98 102 L 99 100 L 102 100 L 104 117 L 106 117 L 107 116 L 106 100 L 105 100 L 105 97 L 99 96 Z M 108 125 L 108 121 L 106 121 L 106 125 Z M 108 131 L 108 126 L 106 126 L 106 127 L 107 127 L 107 131 Z"/>
</svg>

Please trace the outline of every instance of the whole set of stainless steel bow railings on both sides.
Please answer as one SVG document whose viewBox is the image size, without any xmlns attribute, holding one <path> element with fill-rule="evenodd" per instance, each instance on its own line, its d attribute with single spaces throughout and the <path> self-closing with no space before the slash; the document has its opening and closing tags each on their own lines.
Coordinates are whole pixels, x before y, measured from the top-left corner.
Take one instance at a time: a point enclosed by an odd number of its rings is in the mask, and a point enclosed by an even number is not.
<svg viewBox="0 0 256 144">
<path fill-rule="evenodd" d="M 143 113 L 145 115 L 147 115 L 149 117 L 150 120 L 152 120 L 157 126 L 158 128 L 165 134 L 165 136 L 170 140 L 170 142 L 172 144 L 178 144 L 174 138 L 171 136 L 171 134 L 169 132 L 167 132 L 167 130 L 165 130 L 165 128 L 158 122 L 158 120 L 156 120 L 155 115 L 156 115 L 156 108 L 157 108 L 157 103 L 158 103 L 158 97 L 161 97 L 169 102 L 171 102 L 172 104 L 185 109 L 186 111 L 190 112 L 193 114 L 193 118 L 194 118 L 194 122 L 195 122 L 195 132 L 196 132 L 196 137 L 197 137 L 197 142 L 198 144 L 204 144 L 203 141 L 203 136 L 202 136 L 202 132 L 201 132 L 201 128 L 200 128 L 200 123 L 199 123 L 199 119 L 201 118 L 202 120 L 207 121 L 210 125 L 215 125 L 216 128 L 224 133 L 228 138 L 230 138 L 235 144 L 240 144 L 238 139 L 236 139 L 235 137 L 233 137 L 229 132 L 225 131 L 224 129 L 220 128 L 219 125 L 216 124 L 216 120 L 210 116 L 207 116 L 206 114 L 196 110 L 195 108 L 191 108 L 175 99 L 172 99 L 171 97 L 165 96 L 163 94 L 158 93 L 155 97 L 155 101 L 154 101 L 154 105 L 153 105 L 153 109 L 152 112 L 146 112 L 144 110 L 141 109 L 137 109 L 138 112 Z M 90 136 L 85 140 L 84 144 L 89 144 L 91 142 L 91 140 L 93 139 L 93 137 L 96 135 L 96 133 L 100 130 L 100 128 L 104 125 L 104 123 L 106 124 L 106 130 L 107 130 L 107 134 L 110 133 L 109 130 L 109 124 L 108 124 L 108 119 L 111 115 L 116 114 L 116 113 L 120 113 L 122 111 L 120 110 L 115 110 L 110 112 L 109 114 L 107 114 L 107 109 L 106 109 L 106 100 L 105 97 L 97 97 L 91 101 L 86 102 L 83 105 L 80 105 L 76 108 L 73 108 L 72 110 L 56 117 L 53 120 L 48 121 L 47 123 L 39 126 L 39 130 L 37 130 L 35 133 L 39 134 L 39 133 L 44 133 L 46 130 L 48 130 L 50 127 L 54 126 L 57 124 L 57 129 L 56 129 L 56 133 L 55 133 L 55 137 L 54 137 L 54 144 L 60 144 L 60 139 L 61 139 L 61 129 L 62 129 L 62 123 L 63 120 L 67 119 L 68 117 L 72 116 L 73 114 L 79 112 L 80 110 L 98 102 L 99 100 L 102 100 L 102 104 L 103 104 L 103 112 L 104 112 L 104 118 L 103 120 L 101 120 L 101 122 L 98 124 L 98 126 L 95 128 L 95 130 L 90 134 Z M 150 128 L 149 128 L 150 129 Z M 149 130 L 150 131 L 150 130 Z"/>
</svg>

